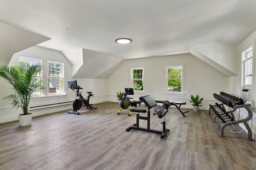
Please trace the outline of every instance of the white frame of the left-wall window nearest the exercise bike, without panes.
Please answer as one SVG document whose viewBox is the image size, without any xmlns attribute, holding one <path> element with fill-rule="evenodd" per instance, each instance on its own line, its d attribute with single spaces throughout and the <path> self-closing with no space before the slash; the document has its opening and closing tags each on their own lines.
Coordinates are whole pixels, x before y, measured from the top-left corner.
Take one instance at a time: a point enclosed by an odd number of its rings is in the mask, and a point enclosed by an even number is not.
<svg viewBox="0 0 256 170">
<path fill-rule="evenodd" d="M 60 64 L 60 69 L 61 69 L 61 75 L 60 76 L 49 76 L 49 70 L 48 70 L 48 64 Z M 60 92 L 56 92 L 56 93 L 49 93 L 50 92 L 50 87 L 49 87 L 49 79 L 57 79 L 60 81 Z M 59 63 L 59 62 L 55 62 L 55 61 L 47 61 L 47 95 L 48 96 L 56 96 L 56 95 L 63 95 L 64 94 L 64 63 Z"/>
</svg>

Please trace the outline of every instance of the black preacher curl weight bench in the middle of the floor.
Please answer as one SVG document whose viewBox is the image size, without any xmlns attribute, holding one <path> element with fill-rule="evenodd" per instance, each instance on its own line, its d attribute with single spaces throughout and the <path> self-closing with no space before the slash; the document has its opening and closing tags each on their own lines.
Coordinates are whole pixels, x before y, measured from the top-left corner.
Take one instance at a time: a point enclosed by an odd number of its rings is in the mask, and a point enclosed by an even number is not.
<svg viewBox="0 0 256 170">
<path fill-rule="evenodd" d="M 151 98 L 149 95 L 148 96 L 142 96 L 140 97 L 140 101 L 144 102 L 144 104 L 146 105 L 146 107 L 148 107 L 148 117 L 145 116 L 140 116 L 140 113 L 146 113 L 147 110 L 146 109 L 141 109 L 141 108 L 132 108 L 131 111 L 132 112 L 136 112 L 137 116 L 136 116 L 136 123 L 134 123 L 133 125 L 131 125 L 130 127 L 128 127 L 126 129 L 126 132 L 130 131 L 131 129 L 136 129 L 136 130 L 140 130 L 140 131 L 147 131 L 147 132 L 152 132 L 152 133 L 157 133 L 157 134 L 161 134 L 161 139 L 164 139 L 164 137 L 167 137 L 166 133 L 170 132 L 169 129 L 166 129 L 165 127 L 165 114 L 168 112 L 168 105 L 166 105 L 165 109 L 166 111 L 164 113 L 160 113 L 158 114 L 159 118 L 163 118 L 163 122 L 161 122 L 163 124 L 163 131 L 158 131 L 158 130 L 153 130 L 150 129 L 150 109 L 154 106 L 157 105 L 157 103 L 154 101 L 153 98 Z M 143 120 L 147 120 L 148 121 L 148 125 L 147 128 L 143 128 L 143 127 L 139 127 L 139 120 L 143 119 Z"/>
</svg>

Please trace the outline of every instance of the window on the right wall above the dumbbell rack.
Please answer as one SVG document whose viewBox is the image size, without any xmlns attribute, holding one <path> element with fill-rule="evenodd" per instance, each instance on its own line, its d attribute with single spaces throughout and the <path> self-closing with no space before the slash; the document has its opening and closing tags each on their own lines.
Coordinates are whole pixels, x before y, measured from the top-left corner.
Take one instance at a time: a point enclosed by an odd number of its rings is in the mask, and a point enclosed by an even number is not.
<svg viewBox="0 0 256 170">
<path fill-rule="evenodd" d="M 252 89 L 252 47 L 242 52 L 242 77 L 244 88 Z"/>
</svg>

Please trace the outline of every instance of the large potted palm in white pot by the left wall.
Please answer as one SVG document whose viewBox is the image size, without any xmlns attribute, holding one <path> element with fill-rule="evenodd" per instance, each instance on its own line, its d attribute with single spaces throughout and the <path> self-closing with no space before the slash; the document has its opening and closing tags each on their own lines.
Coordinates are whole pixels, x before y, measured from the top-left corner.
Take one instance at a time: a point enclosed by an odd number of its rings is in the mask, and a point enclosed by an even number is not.
<svg viewBox="0 0 256 170">
<path fill-rule="evenodd" d="M 42 90 L 43 80 L 35 78 L 43 69 L 42 64 L 34 64 L 27 69 L 23 66 L 0 67 L 0 77 L 4 78 L 11 86 L 13 94 L 3 98 L 11 101 L 11 105 L 22 108 L 23 114 L 19 115 L 20 126 L 31 124 L 32 114 L 28 113 L 28 104 L 32 96 L 36 96 L 36 90 Z M 28 117 L 28 119 L 26 119 Z"/>
</svg>

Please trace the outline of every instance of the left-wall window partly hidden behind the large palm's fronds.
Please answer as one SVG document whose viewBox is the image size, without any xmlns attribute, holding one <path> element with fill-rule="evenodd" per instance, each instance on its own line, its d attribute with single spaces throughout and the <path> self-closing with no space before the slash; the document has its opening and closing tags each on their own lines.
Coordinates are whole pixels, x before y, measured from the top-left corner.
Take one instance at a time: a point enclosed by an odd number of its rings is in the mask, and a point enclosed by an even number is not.
<svg viewBox="0 0 256 170">
<path fill-rule="evenodd" d="M 20 66 L 22 66 L 22 67 L 28 69 L 28 67 L 32 66 L 33 64 L 34 64 L 34 65 L 36 65 L 36 64 L 42 64 L 42 60 L 20 57 Z M 37 79 L 36 82 L 42 80 L 42 72 L 39 72 L 39 73 L 35 76 L 35 78 Z M 36 95 L 36 96 L 42 96 L 40 90 L 36 90 L 36 92 L 34 92 L 34 95 Z"/>
</svg>

